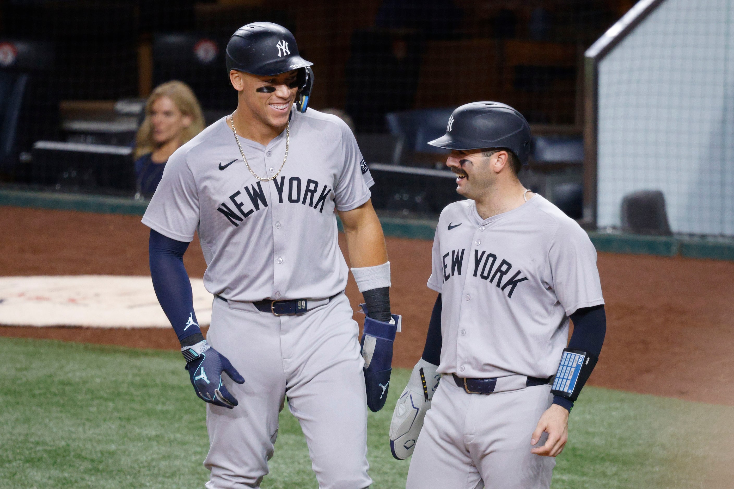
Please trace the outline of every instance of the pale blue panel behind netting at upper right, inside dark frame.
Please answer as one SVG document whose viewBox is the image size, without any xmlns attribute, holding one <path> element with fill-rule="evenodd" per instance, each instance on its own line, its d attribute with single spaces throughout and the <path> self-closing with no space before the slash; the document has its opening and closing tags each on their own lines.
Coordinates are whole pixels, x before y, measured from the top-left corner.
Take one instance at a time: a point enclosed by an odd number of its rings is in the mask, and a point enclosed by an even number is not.
<svg viewBox="0 0 734 489">
<path fill-rule="evenodd" d="M 599 62 L 600 227 L 734 235 L 733 25 L 729 0 L 665 0 Z"/>
</svg>

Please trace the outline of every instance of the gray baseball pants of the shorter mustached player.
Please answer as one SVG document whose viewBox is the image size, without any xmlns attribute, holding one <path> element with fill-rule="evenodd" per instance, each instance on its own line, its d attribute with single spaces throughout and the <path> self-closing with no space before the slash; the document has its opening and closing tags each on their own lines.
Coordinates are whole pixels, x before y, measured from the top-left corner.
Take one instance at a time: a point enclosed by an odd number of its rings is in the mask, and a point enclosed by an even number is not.
<svg viewBox="0 0 734 489">
<path fill-rule="evenodd" d="M 407 489 L 548 489 L 556 459 L 531 454 L 551 386 L 468 394 L 438 384 L 408 470 Z M 543 434 L 536 446 L 545 443 Z"/>
</svg>

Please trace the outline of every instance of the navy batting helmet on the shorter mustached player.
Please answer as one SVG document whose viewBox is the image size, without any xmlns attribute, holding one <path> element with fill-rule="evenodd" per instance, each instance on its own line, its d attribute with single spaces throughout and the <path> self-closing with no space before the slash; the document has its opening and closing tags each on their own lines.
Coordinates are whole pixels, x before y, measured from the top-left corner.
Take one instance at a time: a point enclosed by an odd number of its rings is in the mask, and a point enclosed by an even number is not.
<svg viewBox="0 0 734 489">
<path fill-rule="evenodd" d="M 472 102 L 454 110 L 446 134 L 428 144 L 447 150 L 505 148 L 525 165 L 530 141 L 530 125 L 523 114 L 504 103 Z"/>
</svg>

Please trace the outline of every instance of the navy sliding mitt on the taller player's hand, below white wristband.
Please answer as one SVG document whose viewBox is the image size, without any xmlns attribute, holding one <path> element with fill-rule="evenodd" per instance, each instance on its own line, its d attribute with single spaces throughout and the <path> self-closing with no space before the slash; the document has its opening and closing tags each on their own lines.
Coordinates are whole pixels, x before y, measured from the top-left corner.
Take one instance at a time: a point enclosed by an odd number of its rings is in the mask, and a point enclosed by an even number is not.
<svg viewBox="0 0 734 489">
<path fill-rule="evenodd" d="M 366 309 L 363 306 L 363 309 Z M 393 341 L 400 323 L 399 315 L 392 315 L 390 323 L 365 318 L 364 334 L 360 341 L 365 360 L 364 375 L 367 407 L 377 413 L 388 400 L 390 373 L 393 362 Z"/>
</svg>

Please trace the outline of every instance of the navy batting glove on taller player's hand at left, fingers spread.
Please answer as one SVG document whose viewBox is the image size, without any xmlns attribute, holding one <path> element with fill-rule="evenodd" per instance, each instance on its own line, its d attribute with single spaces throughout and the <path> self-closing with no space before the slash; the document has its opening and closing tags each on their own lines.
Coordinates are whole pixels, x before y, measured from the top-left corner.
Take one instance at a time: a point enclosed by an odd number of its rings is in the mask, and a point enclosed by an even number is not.
<svg viewBox="0 0 734 489">
<path fill-rule="evenodd" d="M 186 360 L 184 368 L 189 371 L 197 396 L 204 402 L 211 402 L 222 408 L 231 409 L 237 405 L 237 400 L 222 382 L 222 372 L 226 372 L 236 383 L 244 383 L 244 378 L 232 367 L 227 357 L 211 348 L 206 339 L 196 345 L 181 348 L 181 353 Z"/>
</svg>

